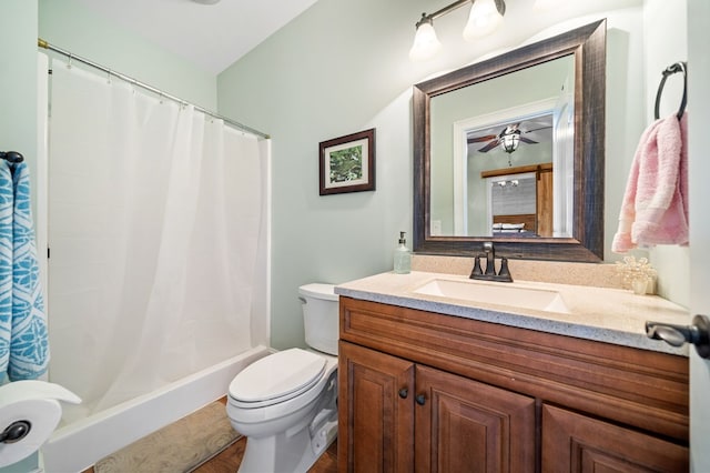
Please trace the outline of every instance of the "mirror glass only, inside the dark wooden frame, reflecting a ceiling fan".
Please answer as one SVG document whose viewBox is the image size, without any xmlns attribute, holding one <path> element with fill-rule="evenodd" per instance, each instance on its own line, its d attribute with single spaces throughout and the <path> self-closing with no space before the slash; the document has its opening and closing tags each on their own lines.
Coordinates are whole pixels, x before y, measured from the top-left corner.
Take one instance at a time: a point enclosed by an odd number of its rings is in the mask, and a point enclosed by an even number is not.
<svg viewBox="0 0 710 473">
<path fill-rule="evenodd" d="M 432 99 L 433 235 L 493 236 L 497 233 L 493 224 L 501 218 L 491 213 L 491 205 L 505 205 L 507 199 L 511 200 L 510 215 L 531 215 L 534 220 L 520 234 L 571 236 L 567 228 L 571 208 L 564 205 L 571 197 L 566 190 L 571 182 L 564 179 L 562 170 L 571 171 L 574 163 L 574 66 L 569 54 Z M 546 193 L 550 202 L 536 205 L 535 185 L 526 187 L 532 193 L 519 200 L 523 188 L 516 189 L 517 180 L 496 178 L 525 172 L 532 164 L 552 169 L 551 182 L 557 189 Z M 506 182 L 513 185 L 505 187 Z M 554 218 L 554 230 L 544 222 L 537 224 L 542 215 L 536 207 Z M 497 219 L 491 219 L 494 215 Z"/>
</svg>

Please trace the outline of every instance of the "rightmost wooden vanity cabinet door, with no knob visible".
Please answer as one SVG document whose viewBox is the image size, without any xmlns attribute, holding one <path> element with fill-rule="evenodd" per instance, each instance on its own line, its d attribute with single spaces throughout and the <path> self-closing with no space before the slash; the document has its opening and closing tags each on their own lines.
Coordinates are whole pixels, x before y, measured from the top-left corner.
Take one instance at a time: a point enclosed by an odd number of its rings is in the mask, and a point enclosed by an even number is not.
<svg viewBox="0 0 710 473">
<path fill-rule="evenodd" d="M 688 449 L 550 405 L 542 406 L 544 472 L 687 472 Z"/>
</svg>

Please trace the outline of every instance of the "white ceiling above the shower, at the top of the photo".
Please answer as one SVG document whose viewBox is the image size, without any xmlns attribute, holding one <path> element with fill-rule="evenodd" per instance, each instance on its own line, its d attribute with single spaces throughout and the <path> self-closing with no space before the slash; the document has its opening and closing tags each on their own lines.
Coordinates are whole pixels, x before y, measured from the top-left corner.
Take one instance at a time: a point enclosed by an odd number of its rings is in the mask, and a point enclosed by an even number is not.
<svg viewBox="0 0 710 473">
<path fill-rule="evenodd" d="M 77 0 L 214 74 L 317 0 Z"/>
</svg>

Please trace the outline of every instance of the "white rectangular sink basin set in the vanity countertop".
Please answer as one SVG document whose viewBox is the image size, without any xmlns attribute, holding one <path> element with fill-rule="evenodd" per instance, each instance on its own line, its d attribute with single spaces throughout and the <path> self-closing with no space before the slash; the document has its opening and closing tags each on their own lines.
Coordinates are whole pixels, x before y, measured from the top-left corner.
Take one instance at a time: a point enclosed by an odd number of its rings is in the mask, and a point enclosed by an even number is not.
<svg viewBox="0 0 710 473">
<path fill-rule="evenodd" d="M 508 283 L 435 279 L 413 292 L 536 311 L 570 313 L 557 291 L 520 288 Z"/>
</svg>

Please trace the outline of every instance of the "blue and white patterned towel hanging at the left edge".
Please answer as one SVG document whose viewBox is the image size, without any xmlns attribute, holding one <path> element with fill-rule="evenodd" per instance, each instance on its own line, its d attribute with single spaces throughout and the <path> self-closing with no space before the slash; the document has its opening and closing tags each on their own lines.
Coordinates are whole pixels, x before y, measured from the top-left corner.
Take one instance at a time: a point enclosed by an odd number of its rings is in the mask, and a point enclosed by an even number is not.
<svg viewBox="0 0 710 473">
<path fill-rule="evenodd" d="M 27 164 L 0 160 L 0 384 L 47 371 L 49 340 Z"/>
</svg>

